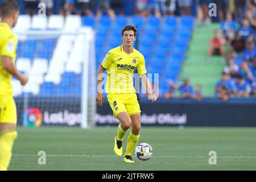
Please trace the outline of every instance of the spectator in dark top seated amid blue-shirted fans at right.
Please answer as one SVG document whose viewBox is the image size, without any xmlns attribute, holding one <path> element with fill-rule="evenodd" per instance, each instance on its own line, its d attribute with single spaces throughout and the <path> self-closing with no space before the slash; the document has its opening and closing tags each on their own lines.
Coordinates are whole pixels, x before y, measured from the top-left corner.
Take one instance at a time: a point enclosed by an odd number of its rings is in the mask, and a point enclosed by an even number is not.
<svg viewBox="0 0 256 182">
<path fill-rule="evenodd" d="M 230 57 L 243 57 L 243 51 L 245 51 L 245 40 L 242 39 L 242 37 L 239 34 L 237 34 L 236 38 L 232 40 L 230 46 Z"/>
</svg>

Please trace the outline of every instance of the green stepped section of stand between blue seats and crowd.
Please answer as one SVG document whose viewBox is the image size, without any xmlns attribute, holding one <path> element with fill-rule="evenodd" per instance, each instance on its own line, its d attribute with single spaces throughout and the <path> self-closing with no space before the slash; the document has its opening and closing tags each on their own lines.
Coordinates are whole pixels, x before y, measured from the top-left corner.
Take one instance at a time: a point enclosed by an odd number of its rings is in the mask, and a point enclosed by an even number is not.
<svg viewBox="0 0 256 182">
<path fill-rule="evenodd" d="M 206 27 L 195 28 L 180 75 L 180 81 L 189 77 L 191 84 L 200 84 L 205 96 L 214 96 L 214 87 L 225 67 L 220 56 L 214 56 L 212 62 L 207 61 L 210 39 L 219 26 L 218 23 L 212 23 Z"/>
</svg>

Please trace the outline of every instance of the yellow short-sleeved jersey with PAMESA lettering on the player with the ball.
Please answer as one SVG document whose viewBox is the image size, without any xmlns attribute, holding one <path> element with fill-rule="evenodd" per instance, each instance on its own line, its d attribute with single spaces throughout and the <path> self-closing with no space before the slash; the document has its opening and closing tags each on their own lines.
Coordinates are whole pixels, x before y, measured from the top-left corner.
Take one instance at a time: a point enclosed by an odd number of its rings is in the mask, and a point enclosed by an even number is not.
<svg viewBox="0 0 256 182">
<path fill-rule="evenodd" d="M 106 93 L 135 93 L 134 69 L 137 68 L 139 75 L 147 73 L 142 53 L 133 48 L 133 52 L 128 55 L 123 45 L 111 49 L 101 65 L 108 73 Z"/>
</svg>

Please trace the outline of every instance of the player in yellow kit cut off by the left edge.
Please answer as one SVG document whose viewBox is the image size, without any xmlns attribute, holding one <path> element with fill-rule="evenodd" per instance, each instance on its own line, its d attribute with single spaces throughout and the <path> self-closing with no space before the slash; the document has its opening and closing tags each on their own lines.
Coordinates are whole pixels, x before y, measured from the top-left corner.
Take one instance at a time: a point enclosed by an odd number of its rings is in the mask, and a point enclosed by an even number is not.
<svg viewBox="0 0 256 182">
<path fill-rule="evenodd" d="M 0 171 L 9 167 L 12 148 L 17 137 L 16 105 L 13 99 L 11 77 L 19 79 L 25 85 L 27 76 L 20 74 L 14 65 L 18 39 L 11 31 L 19 15 L 18 3 L 5 0 L 0 5 Z"/>
</svg>

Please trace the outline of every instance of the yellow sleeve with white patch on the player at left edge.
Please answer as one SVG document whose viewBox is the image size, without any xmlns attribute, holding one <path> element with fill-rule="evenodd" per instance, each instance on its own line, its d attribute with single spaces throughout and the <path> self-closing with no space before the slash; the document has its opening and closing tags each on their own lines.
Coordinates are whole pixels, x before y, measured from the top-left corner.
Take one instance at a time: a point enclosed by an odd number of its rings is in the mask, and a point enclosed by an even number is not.
<svg viewBox="0 0 256 182">
<path fill-rule="evenodd" d="M 8 38 L 6 42 L 3 43 L 1 56 L 8 56 L 15 59 L 17 44 L 18 40 L 16 36 L 13 35 L 10 38 Z"/>
</svg>

